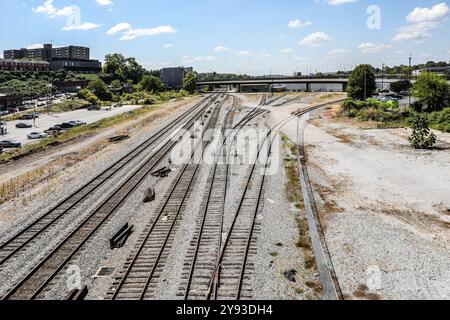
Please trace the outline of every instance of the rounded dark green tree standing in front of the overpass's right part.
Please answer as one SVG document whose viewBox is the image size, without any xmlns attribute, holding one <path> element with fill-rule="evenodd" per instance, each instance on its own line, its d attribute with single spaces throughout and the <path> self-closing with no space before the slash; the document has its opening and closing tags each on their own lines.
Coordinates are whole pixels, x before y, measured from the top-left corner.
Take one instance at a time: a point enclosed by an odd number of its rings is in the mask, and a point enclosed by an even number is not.
<svg viewBox="0 0 450 320">
<path fill-rule="evenodd" d="M 348 82 L 348 95 L 352 99 L 366 100 L 375 92 L 375 70 L 371 65 L 362 64 L 353 70 Z"/>
</svg>

